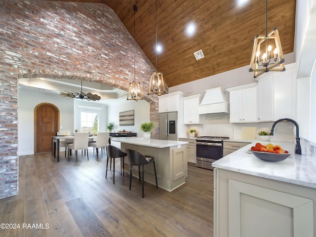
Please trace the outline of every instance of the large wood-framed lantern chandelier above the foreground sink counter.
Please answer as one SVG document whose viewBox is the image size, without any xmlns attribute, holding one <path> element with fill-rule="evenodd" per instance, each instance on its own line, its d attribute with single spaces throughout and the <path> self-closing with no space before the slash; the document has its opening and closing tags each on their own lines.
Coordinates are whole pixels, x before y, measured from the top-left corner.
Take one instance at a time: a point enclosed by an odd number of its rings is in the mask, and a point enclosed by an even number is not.
<svg viewBox="0 0 316 237">
<path fill-rule="evenodd" d="M 249 72 L 254 72 L 254 78 L 270 71 L 285 71 L 283 51 L 277 28 L 269 34 L 268 0 L 266 0 L 266 35 L 255 36 L 253 43 Z M 274 48 L 274 50 L 272 50 Z M 277 66 L 280 66 L 276 68 Z"/>
</svg>

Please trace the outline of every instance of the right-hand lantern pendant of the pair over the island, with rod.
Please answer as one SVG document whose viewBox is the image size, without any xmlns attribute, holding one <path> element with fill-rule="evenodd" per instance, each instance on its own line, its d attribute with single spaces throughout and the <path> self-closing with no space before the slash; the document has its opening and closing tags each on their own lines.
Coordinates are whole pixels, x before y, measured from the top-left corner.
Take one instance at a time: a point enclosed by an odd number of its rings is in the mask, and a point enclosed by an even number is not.
<svg viewBox="0 0 316 237">
<path fill-rule="evenodd" d="M 161 93 L 165 93 L 166 89 L 164 87 L 163 75 L 157 71 L 157 0 L 156 0 L 156 72 L 150 75 L 148 94 L 157 94 L 158 96 Z"/>
</svg>

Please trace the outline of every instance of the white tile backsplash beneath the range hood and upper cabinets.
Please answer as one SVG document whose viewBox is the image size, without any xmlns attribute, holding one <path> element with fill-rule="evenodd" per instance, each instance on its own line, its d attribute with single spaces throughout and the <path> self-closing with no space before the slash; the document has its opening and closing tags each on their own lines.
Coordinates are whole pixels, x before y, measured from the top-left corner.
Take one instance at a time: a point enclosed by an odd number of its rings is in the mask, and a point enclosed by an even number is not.
<svg viewBox="0 0 316 237">
<path fill-rule="evenodd" d="M 231 139 L 242 139 L 242 130 L 255 127 L 255 135 L 264 130 L 270 132 L 273 122 L 230 123 L 229 114 L 202 115 L 201 125 L 189 125 L 196 129 L 198 136 L 225 136 Z M 271 141 L 295 141 L 295 126 L 291 122 L 279 122 Z"/>
</svg>

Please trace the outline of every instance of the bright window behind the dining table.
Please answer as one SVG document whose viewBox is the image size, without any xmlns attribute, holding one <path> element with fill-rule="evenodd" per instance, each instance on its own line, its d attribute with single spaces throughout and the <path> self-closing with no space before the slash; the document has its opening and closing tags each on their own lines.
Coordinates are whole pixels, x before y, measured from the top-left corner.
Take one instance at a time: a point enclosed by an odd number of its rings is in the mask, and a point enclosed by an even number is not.
<svg viewBox="0 0 316 237">
<path fill-rule="evenodd" d="M 98 133 L 99 113 L 80 112 L 80 132 Z"/>
</svg>

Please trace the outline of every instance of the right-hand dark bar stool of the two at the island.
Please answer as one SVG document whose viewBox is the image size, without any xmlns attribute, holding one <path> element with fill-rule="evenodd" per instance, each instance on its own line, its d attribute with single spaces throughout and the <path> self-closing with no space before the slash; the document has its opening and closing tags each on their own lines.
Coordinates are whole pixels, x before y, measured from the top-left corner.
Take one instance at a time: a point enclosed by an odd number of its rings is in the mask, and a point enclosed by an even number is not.
<svg viewBox="0 0 316 237">
<path fill-rule="evenodd" d="M 128 161 L 129 161 L 129 164 L 130 164 L 129 190 L 130 190 L 131 184 L 132 184 L 132 169 L 133 169 L 133 165 L 138 165 L 139 181 L 140 181 L 140 179 L 143 180 L 143 183 L 142 183 L 142 197 L 144 198 L 144 172 L 150 173 L 150 172 L 147 172 L 147 171 L 144 170 L 144 165 L 149 164 L 149 163 L 153 163 L 154 164 L 155 178 L 156 178 L 156 187 L 158 189 L 155 158 L 151 157 L 151 156 L 144 156 L 143 154 L 141 154 L 141 153 L 139 153 L 137 151 L 134 151 L 134 150 L 130 150 L 130 149 L 127 149 L 126 153 L 127 153 Z M 141 166 L 142 166 L 142 169 L 140 169 Z M 141 170 L 142 170 L 142 175 L 140 175 Z M 150 173 L 150 174 L 152 174 L 152 173 Z"/>
</svg>

